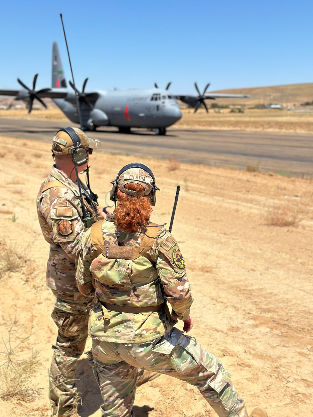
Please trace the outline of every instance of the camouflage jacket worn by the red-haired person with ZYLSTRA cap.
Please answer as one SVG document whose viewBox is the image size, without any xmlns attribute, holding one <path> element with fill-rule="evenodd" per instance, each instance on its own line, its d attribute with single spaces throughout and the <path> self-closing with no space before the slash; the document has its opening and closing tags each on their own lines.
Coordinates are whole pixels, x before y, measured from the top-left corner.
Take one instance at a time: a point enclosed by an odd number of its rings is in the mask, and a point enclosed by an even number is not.
<svg viewBox="0 0 313 417">
<path fill-rule="evenodd" d="M 104 244 L 116 239 L 121 246 L 140 245 L 145 229 L 126 234 L 117 230 L 114 221 L 108 219 L 109 216 L 102 223 Z M 149 251 L 154 263 L 144 256 L 124 260 L 108 259 L 100 254 L 93 259 L 95 252 L 89 229 L 82 236 L 78 249 L 76 281 L 79 284 L 94 281 L 99 300 L 128 307 L 156 306 L 167 300 L 172 306 L 172 317 L 188 317 L 192 295 L 184 258 L 177 242 L 164 227 Z M 98 302 L 89 317 L 88 333 L 99 340 L 143 343 L 161 337 L 175 323 L 167 317 L 164 306 L 159 311 L 134 314 L 106 311 Z"/>
</svg>

